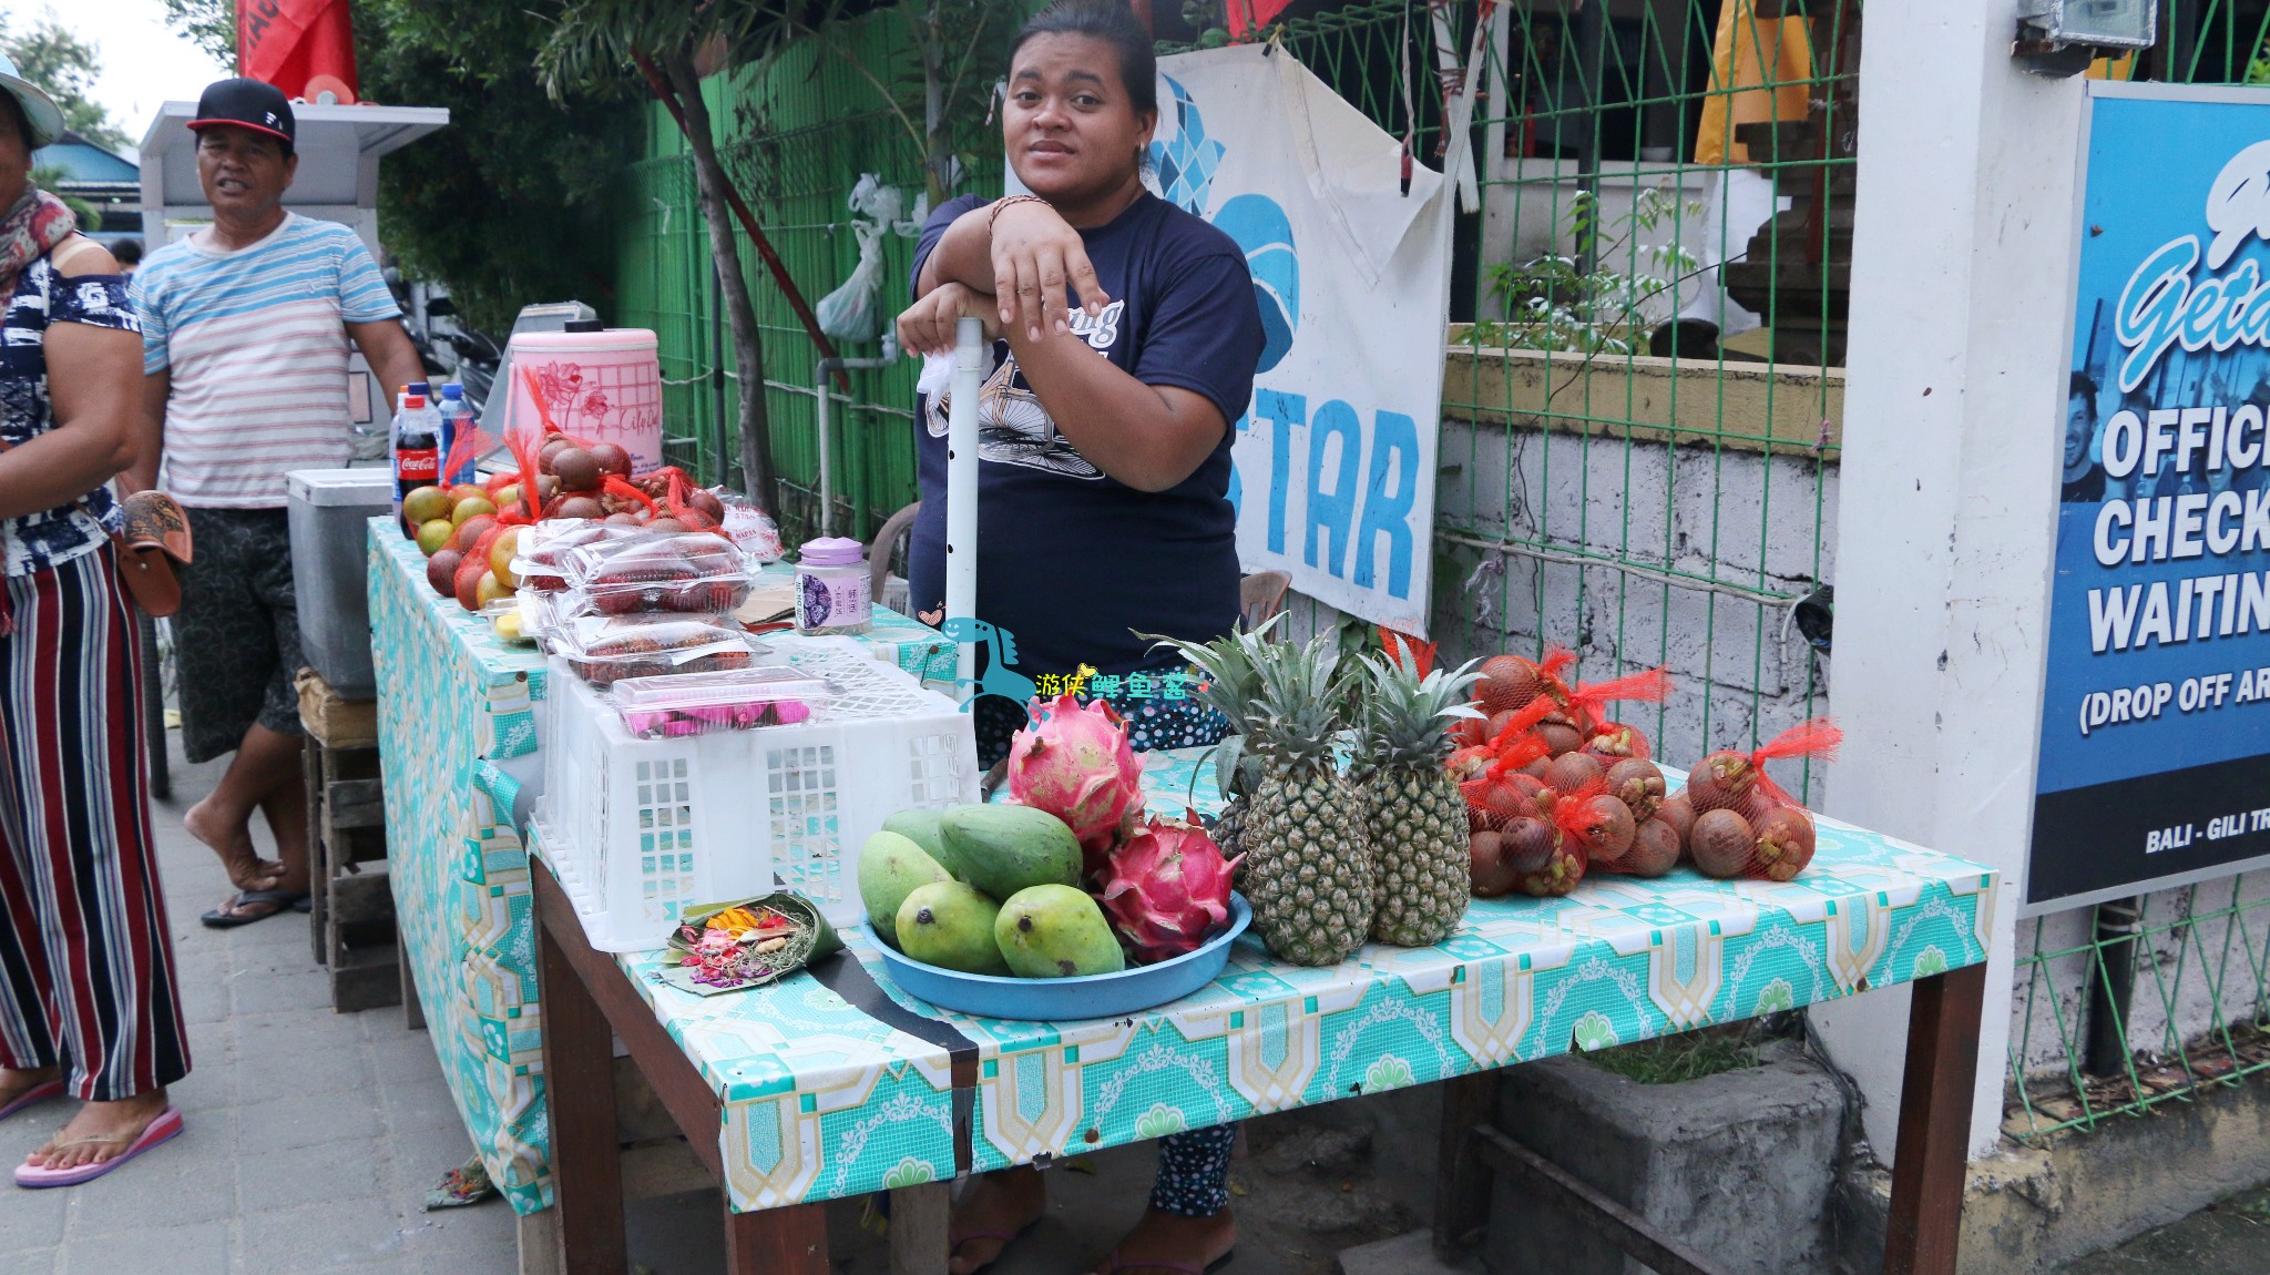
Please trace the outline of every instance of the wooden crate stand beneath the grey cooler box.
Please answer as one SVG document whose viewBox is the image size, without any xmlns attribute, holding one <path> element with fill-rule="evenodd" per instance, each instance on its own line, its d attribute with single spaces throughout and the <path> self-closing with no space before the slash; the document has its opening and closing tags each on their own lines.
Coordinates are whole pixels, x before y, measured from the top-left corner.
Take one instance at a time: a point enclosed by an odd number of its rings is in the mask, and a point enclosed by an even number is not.
<svg viewBox="0 0 2270 1275">
<path fill-rule="evenodd" d="M 309 944 L 340 1014 L 402 1003 L 395 896 L 386 876 L 386 790 L 377 701 L 340 699 L 300 669 L 306 728 Z"/>
</svg>

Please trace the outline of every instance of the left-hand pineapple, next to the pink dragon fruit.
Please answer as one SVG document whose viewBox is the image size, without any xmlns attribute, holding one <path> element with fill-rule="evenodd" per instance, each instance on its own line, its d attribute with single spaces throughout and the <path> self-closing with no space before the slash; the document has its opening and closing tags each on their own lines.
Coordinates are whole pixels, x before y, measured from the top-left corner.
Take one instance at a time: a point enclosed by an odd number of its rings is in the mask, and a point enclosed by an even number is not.
<svg viewBox="0 0 2270 1275">
<path fill-rule="evenodd" d="M 1239 830 L 1253 928 L 1283 960 L 1337 964 L 1371 932 L 1373 887 L 1360 794 L 1332 758 L 1346 692 L 1332 633 L 1262 644 L 1253 681 L 1246 749 L 1260 780 Z"/>
</svg>

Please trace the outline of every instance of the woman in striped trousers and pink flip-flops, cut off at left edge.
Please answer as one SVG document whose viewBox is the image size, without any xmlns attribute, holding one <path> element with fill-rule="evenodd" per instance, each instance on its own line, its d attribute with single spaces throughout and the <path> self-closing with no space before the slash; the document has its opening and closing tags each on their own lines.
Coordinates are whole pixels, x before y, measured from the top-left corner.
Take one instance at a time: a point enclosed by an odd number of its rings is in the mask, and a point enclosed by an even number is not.
<svg viewBox="0 0 2270 1275">
<path fill-rule="evenodd" d="M 0 59 L 0 1118 L 82 1100 L 20 1187 L 182 1132 L 166 1084 L 188 1073 L 104 488 L 134 463 L 141 324 L 111 254 L 32 186 L 32 147 L 59 132 Z"/>
</svg>

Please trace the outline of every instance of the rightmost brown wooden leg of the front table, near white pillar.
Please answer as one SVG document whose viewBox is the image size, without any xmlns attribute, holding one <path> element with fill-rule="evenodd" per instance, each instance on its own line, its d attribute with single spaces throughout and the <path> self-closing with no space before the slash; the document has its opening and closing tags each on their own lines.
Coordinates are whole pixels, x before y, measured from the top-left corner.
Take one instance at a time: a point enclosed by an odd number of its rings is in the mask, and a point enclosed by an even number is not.
<svg viewBox="0 0 2270 1275">
<path fill-rule="evenodd" d="M 1954 1275 L 1984 998 L 1984 964 L 1916 982 L 1916 1000 L 1907 1012 L 1907 1073 L 1900 1082 L 1900 1146 L 1891 1166 L 1884 1275 Z"/>
</svg>

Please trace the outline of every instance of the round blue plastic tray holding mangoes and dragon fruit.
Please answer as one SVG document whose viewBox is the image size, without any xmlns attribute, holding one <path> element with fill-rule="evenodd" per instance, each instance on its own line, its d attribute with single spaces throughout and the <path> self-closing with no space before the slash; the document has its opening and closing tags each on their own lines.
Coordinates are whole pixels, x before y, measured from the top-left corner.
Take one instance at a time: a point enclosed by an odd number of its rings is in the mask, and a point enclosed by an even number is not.
<svg viewBox="0 0 2270 1275">
<path fill-rule="evenodd" d="M 883 964 L 892 982 L 908 996 L 919 996 L 940 1010 L 960 1010 L 981 1019 L 1112 1019 L 1180 1000 L 1221 978 L 1221 969 L 1230 962 L 1230 944 L 1251 923 L 1253 907 L 1246 905 L 1242 894 L 1230 894 L 1230 928 L 1208 939 L 1199 951 L 1158 964 L 1121 969 L 1119 973 L 1087 973 L 1081 978 L 958 973 L 922 964 L 883 939 L 874 939 L 874 948 L 883 953 Z"/>
</svg>

